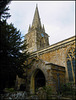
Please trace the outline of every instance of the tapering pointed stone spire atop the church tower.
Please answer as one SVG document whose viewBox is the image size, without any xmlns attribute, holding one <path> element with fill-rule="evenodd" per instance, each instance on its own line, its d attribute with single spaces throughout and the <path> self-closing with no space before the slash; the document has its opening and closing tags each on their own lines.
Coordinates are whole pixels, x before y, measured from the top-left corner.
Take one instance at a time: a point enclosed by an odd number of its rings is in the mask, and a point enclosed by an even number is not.
<svg viewBox="0 0 76 100">
<path fill-rule="evenodd" d="M 37 4 L 36 4 L 35 14 L 34 14 L 33 22 L 32 22 L 32 27 L 34 27 L 34 28 L 40 28 L 41 27 L 41 22 L 40 22 Z"/>
</svg>

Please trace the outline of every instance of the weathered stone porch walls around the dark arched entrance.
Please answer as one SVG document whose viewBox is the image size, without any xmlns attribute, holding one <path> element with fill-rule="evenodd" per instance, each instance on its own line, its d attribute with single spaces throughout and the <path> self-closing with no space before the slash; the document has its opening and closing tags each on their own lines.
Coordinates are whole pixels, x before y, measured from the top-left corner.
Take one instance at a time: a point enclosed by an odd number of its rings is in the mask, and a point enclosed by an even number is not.
<svg viewBox="0 0 76 100">
<path fill-rule="evenodd" d="M 30 71 L 28 71 L 28 76 L 30 81 L 30 92 L 34 93 L 35 92 L 35 76 L 37 74 L 38 70 L 41 70 L 42 73 L 45 76 L 45 80 L 46 80 L 46 86 L 50 86 L 54 92 L 56 92 L 57 89 L 57 84 L 58 84 L 58 80 L 57 80 L 57 73 L 59 73 L 59 77 L 60 77 L 60 82 L 63 83 L 65 81 L 65 67 L 63 66 L 58 66 L 46 61 L 43 61 L 41 59 L 37 59 L 35 60 L 35 62 L 33 63 L 32 67 L 29 69 Z"/>
</svg>

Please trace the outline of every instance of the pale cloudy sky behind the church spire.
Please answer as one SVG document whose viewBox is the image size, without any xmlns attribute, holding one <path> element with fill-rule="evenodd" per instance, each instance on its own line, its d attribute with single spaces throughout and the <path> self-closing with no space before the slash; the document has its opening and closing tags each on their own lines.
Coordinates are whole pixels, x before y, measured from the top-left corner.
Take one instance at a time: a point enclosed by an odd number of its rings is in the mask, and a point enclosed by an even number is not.
<svg viewBox="0 0 76 100">
<path fill-rule="evenodd" d="M 24 36 L 32 25 L 36 4 L 50 45 L 75 36 L 75 1 L 11 1 L 7 22 Z"/>
</svg>

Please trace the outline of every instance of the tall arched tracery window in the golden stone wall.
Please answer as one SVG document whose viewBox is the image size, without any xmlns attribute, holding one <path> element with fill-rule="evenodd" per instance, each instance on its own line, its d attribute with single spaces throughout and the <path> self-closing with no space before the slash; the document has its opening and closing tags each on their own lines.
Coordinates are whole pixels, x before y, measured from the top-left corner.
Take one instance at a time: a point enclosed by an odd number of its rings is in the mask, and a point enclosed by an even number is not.
<svg viewBox="0 0 76 100">
<path fill-rule="evenodd" d="M 76 63 L 76 49 L 70 48 L 67 53 L 67 69 L 69 81 L 75 82 L 75 63 Z"/>
</svg>

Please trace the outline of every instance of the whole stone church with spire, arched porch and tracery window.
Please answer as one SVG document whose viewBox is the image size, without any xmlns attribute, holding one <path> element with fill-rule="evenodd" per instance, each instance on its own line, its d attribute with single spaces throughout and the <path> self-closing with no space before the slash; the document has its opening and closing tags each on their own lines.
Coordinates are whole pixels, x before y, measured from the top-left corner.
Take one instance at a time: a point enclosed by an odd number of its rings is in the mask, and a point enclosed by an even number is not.
<svg viewBox="0 0 76 100">
<path fill-rule="evenodd" d="M 32 62 L 27 70 L 27 87 L 30 93 L 43 86 L 51 86 L 54 91 L 60 84 L 75 83 L 75 36 L 61 42 L 49 45 L 49 36 L 42 26 L 38 7 L 36 6 L 32 25 L 25 35 Z M 18 87 L 25 84 L 23 79 L 18 79 Z"/>
</svg>

